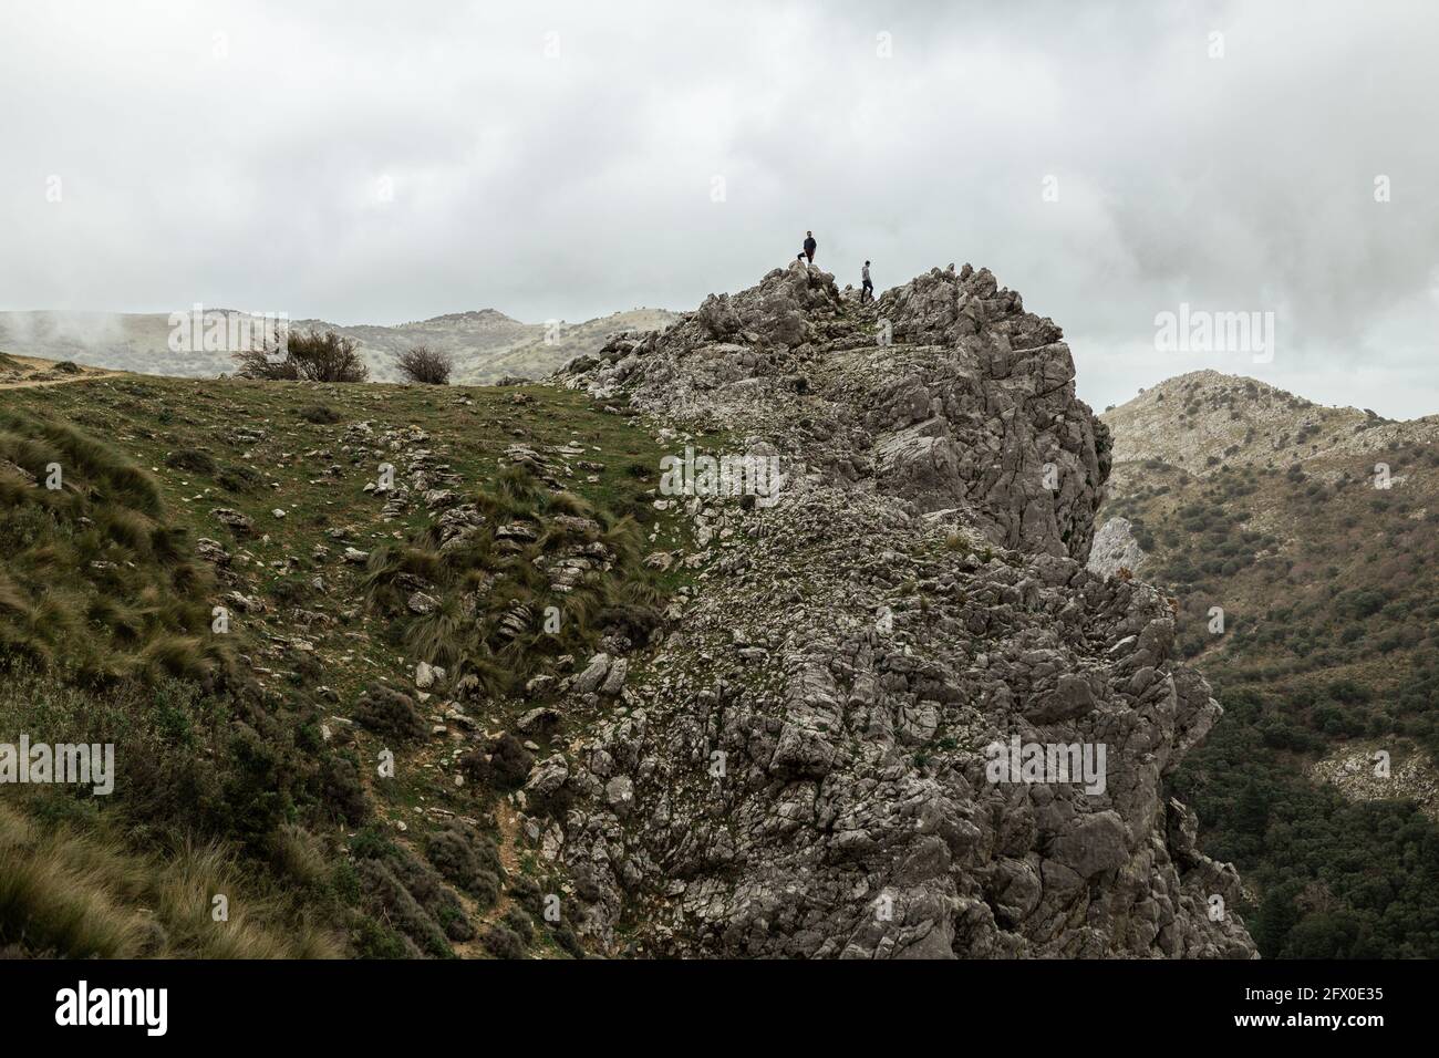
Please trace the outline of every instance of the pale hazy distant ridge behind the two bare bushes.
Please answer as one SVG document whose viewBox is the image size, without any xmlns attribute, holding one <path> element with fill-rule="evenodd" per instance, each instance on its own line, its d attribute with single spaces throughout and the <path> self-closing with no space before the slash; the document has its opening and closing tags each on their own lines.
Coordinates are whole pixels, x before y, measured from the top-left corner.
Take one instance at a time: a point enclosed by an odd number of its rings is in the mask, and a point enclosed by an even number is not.
<svg viewBox="0 0 1439 1058">
<path fill-rule="evenodd" d="M 246 315 L 224 308 L 207 311 Z M 581 353 L 599 351 L 616 334 L 665 328 L 676 318 L 666 309 L 636 308 L 580 324 L 525 324 L 485 308 L 393 327 L 304 318 L 292 320 L 291 328 L 314 327 L 354 340 L 374 381 L 401 380 L 396 358 L 423 344 L 453 357 L 455 381 L 492 383 L 505 376 L 544 377 Z M 235 370 L 229 351 L 174 351 L 170 334 L 170 315 L 164 312 L 0 312 L 0 348 L 20 356 L 187 379 Z"/>
</svg>

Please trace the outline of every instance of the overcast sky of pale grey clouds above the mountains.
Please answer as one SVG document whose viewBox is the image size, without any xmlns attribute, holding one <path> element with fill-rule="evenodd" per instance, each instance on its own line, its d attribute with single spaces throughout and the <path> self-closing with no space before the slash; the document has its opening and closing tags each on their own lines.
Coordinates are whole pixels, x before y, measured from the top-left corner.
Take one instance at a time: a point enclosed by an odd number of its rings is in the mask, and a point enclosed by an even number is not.
<svg viewBox="0 0 1439 1058">
<path fill-rule="evenodd" d="M 1097 407 L 1439 413 L 1427 0 L 0 4 L 0 309 L 578 321 L 813 229 L 842 284 L 989 265 Z M 1181 302 L 1272 360 L 1157 350 Z"/>
</svg>

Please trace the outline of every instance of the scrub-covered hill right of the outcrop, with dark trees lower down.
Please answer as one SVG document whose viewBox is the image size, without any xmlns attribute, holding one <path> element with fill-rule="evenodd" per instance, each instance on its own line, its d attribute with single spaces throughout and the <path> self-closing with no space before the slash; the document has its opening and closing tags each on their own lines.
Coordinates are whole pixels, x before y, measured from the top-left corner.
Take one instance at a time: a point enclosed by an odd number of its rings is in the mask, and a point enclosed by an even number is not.
<svg viewBox="0 0 1439 1058">
<path fill-rule="evenodd" d="M 1176 785 L 1253 890 L 1261 950 L 1439 954 L 1433 420 L 1209 371 L 1105 422 L 1099 521 L 1131 523 L 1135 574 L 1173 593 L 1229 711 Z"/>
</svg>

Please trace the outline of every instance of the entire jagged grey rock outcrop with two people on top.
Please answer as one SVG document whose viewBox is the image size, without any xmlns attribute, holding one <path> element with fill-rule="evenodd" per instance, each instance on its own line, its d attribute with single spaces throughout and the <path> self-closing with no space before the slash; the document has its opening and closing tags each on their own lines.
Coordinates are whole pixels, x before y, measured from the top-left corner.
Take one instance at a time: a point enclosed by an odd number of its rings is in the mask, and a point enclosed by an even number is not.
<svg viewBox="0 0 1439 1058">
<path fill-rule="evenodd" d="M 1085 569 L 1108 435 L 1052 321 L 968 265 L 868 305 L 793 265 L 561 377 L 784 468 L 773 502 L 679 497 L 699 589 L 521 799 L 590 943 L 1253 954 L 1164 789 L 1219 705 L 1168 602 Z M 996 770 L 1026 746 L 1079 770 Z"/>
</svg>

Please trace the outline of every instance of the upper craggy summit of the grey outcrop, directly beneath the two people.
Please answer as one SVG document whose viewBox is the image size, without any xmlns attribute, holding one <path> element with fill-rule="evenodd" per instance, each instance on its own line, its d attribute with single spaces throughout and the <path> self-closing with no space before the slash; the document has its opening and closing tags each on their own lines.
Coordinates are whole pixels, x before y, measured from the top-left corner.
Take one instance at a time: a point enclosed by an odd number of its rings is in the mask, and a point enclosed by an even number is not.
<svg viewBox="0 0 1439 1058">
<path fill-rule="evenodd" d="M 989 269 L 937 268 L 861 304 L 794 263 L 711 295 L 663 335 L 612 341 L 566 377 L 761 433 L 791 478 L 960 514 L 996 546 L 1088 556 L 1108 433 L 1075 397 L 1061 328 Z"/>
</svg>

